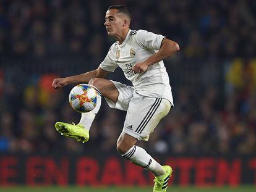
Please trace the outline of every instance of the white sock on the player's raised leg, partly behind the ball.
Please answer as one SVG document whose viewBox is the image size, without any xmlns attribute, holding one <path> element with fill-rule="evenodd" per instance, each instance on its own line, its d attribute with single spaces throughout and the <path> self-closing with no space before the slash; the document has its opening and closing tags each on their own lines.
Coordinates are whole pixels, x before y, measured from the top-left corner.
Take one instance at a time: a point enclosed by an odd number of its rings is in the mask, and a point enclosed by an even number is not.
<svg viewBox="0 0 256 192">
<path fill-rule="evenodd" d="M 100 106 L 101 106 L 101 93 L 96 88 L 95 88 L 95 90 L 98 93 L 96 107 L 90 112 L 82 113 L 81 119 L 79 122 L 79 124 L 83 125 L 83 127 L 85 127 L 85 129 L 88 131 L 90 130 L 90 128 L 92 126 L 92 122 L 95 119 L 95 116 L 98 113 L 98 111 L 100 110 Z"/>
</svg>

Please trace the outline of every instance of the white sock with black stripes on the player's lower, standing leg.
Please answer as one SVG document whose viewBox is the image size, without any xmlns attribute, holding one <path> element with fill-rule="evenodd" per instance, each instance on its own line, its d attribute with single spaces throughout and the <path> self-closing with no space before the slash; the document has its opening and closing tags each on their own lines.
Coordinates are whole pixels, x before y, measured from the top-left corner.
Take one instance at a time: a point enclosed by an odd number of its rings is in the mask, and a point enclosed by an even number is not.
<svg viewBox="0 0 256 192">
<path fill-rule="evenodd" d="M 165 173 L 161 165 L 145 149 L 139 146 L 134 145 L 125 154 L 122 154 L 122 157 L 144 169 L 150 170 L 156 177 Z"/>
</svg>

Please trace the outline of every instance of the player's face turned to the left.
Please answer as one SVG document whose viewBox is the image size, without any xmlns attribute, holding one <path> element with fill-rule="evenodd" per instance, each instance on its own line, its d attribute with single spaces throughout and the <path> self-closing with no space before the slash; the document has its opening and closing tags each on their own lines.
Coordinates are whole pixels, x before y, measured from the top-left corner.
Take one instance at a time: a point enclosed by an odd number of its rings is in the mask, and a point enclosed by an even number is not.
<svg viewBox="0 0 256 192">
<path fill-rule="evenodd" d="M 123 28 L 123 20 L 118 14 L 117 9 L 110 9 L 106 12 L 105 23 L 108 35 L 116 36 L 120 34 Z"/>
</svg>

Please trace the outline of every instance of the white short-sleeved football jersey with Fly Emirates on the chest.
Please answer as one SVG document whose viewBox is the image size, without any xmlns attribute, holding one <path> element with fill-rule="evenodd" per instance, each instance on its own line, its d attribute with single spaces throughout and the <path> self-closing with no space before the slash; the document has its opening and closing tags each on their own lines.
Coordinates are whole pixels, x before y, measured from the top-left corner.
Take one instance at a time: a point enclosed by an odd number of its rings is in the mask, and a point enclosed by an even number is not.
<svg viewBox="0 0 256 192">
<path fill-rule="evenodd" d="M 163 38 L 162 35 L 145 30 L 129 30 L 122 44 L 116 41 L 111 46 L 108 55 L 101 62 L 100 68 L 114 72 L 117 67 L 121 67 L 137 93 L 143 96 L 168 99 L 173 105 L 169 77 L 163 61 L 151 65 L 144 73 L 136 74 L 132 71 L 135 64 L 147 60 L 160 49 Z"/>
</svg>

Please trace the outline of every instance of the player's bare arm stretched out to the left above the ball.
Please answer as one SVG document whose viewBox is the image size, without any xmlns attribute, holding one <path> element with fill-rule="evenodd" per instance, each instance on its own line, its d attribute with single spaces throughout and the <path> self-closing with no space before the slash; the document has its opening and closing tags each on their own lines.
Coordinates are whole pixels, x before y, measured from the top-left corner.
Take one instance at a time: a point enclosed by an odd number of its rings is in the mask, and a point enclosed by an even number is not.
<svg viewBox="0 0 256 192">
<path fill-rule="evenodd" d="M 80 75 L 69 76 L 65 78 L 55 78 L 53 80 L 53 88 L 59 90 L 63 86 L 69 84 L 88 83 L 92 78 L 105 78 L 109 72 L 98 67 L 96 70 L 82 73 Z"/>
</svg>

